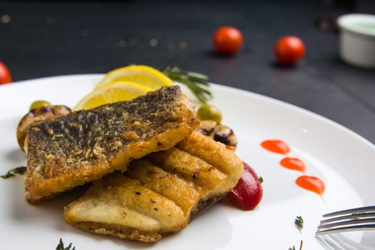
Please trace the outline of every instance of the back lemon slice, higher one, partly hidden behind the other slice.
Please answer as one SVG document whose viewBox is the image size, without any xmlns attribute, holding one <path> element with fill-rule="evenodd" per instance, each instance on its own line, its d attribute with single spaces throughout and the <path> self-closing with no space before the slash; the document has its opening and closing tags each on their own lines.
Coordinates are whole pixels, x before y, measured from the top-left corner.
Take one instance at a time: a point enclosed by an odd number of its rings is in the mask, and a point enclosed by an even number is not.
<svg viewBox="0 0 375 250">
<path fill-rule="evenodd" d="M 173 81 L 157 69 L 145 65 L 129 65 L 109 71 L 95 89 L 101 89 L 113 81 L 134 81 L 153 90 L 173 85 Z"/>
</svg>

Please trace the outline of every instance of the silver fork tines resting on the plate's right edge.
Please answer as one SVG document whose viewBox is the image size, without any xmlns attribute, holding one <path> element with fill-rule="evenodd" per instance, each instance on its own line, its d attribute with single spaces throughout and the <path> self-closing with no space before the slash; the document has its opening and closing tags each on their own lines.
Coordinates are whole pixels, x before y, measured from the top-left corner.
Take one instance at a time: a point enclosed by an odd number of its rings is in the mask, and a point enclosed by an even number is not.
<svg viewBox="0 0 375 250">
<path fill-rule="evenodd" d="M 336 211 L 323 215 L 316 235 L 375 229 L 375 206 Z"/>
</svg>

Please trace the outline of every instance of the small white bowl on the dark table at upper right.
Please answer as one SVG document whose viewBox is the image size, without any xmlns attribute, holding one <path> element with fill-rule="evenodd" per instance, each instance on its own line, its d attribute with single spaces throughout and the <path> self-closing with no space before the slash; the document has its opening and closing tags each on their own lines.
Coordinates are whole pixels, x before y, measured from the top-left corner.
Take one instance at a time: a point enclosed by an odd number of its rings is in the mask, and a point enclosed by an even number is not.
<svg viewBox="0 0 375 250">
<path fill-rule="evenodd" d="M 346 14 L 337 19 L 340 56 L 348 64 L 375 69 L 375 15 Z"/>
</svg>

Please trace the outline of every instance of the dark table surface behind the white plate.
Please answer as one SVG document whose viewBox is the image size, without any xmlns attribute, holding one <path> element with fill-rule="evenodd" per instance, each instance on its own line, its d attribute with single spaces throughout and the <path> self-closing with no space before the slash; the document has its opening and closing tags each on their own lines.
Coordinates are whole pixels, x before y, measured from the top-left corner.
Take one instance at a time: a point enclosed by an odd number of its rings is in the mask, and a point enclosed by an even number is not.
<svg viewBox="0 0 375 250">
<path fill-rule="evenodd" d="M 0 61 L 14 81 L 176 65 L 301 106 L 375 143 L 375 71 L 344 64 L 338 34 L 316 28 L 316 19 L 356 11 L 374 13 L 374 1 L 0 1 Z M 221 25 L 244 34 L 236 56 L 212 49 Z M 274 43 L 286 34 L 306 44 L 293 68 L 274 64 Z"/>
</svg>

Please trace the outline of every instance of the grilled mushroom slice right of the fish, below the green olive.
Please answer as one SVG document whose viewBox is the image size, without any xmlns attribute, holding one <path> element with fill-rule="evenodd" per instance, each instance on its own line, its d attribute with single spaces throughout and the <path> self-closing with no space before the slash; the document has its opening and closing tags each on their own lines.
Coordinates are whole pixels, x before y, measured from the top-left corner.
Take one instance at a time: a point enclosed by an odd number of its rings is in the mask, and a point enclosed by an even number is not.
<svg viewBox="0 0 375 250">
<path fill-rule="evenodd" d="M 233 130 L 229 126 L 223 124 L 218 124 L 216 121 L 204 120 L 201 121 L 197 131 L 205 134 L 206 136 L 211 136 L 215 141 L 220 141 L 227 146 L 237 146 L 237 137 Z"/>
</svg>

